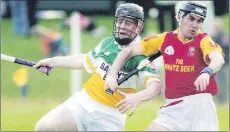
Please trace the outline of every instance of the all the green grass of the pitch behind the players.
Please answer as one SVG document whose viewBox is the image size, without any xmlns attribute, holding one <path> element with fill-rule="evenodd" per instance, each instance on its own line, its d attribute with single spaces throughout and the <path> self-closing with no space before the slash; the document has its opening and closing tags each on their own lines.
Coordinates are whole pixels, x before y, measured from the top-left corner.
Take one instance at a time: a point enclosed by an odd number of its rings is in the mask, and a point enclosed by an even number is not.
<svg viewBox="0 0 230 132">
<path fill-rule="evenodd" d="M 93 16 L 100 25 L 108 28 L 108 33 L 104 36 L 112 35 L 112 17 Z M 228 17 L 224 16 L 225 23 Z M 51 29 L 55 29 L 55 24 L 60 20 L 41 20 L 43 24 Z M 42 58 L 40 40 L 37 37 L 26 39 L 12 33 L 11 21 L 2 20 L 1 23 L 1 52 L 4 54 L 38 61 Z M 225 24 L 228 29 L 228 24 Z M 146 22 L 146 32 L 156 32 L 156 21 L 148 19 Z M 69 30 L 63 30 L 62 34 L 67 42 L 70 42 Z M 82 32 L 82 52 L 86 53 L 100 42 L 100 38 L 92 38 L 89 33 Z M 1 61 L 1 129 L 4 131 L 33 130 L 35 123 L 42 115 L 61 103 L 70 95 L 70 70 L 53 69 L 50 76 L 46 76 L 33 68 L 28 68 L 29 73 L 29 93 L 27 100 L 21 100 L 20 88 L 12 81 L 12 74 L 19 68 L 10 62 Z M 83 82 L 90 75 L 83 71 Z M 136 113 L 127 119 L 126 130 L 145 130 L 156 117 L 156 112 L 163 99 L 142 104 Z M 229 106 L 217 105 L 220 130 L 229 130 Z"/>
</svg>

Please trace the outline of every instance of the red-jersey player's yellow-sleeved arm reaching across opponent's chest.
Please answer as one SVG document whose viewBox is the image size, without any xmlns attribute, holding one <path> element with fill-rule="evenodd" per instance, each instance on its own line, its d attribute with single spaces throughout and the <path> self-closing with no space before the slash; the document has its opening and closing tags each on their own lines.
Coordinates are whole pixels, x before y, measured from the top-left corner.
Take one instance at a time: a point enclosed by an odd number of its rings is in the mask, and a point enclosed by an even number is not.
<svg viewBox="0 0 230 132">
<path fill-rule="evenodd" d="M 166 33 L 158 34 L 156 36 L 149 36 L 141 41 L 134 41 L 127 47 L 123 48 L 117 55 L 109 74 L 106 79 L 106 83 L 111 90 L 115 91 L 117 88 L 116 75 L 118 71 L 123 67 L 126 61 L 135 55 L 150 56 L 160 51 L 161 45 L 164 42 Z"/>
</svg>

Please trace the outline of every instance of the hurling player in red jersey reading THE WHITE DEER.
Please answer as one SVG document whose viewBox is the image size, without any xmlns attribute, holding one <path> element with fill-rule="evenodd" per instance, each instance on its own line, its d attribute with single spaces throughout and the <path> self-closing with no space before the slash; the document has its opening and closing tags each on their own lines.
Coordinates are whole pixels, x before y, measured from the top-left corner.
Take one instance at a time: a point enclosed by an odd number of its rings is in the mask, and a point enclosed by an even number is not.
<svg viewBox="0 0 230 132">
<path fill-rule="evenodd" d="M 132 43 L 116 57 L 106 80 L 113 91 L 117 71 L 130 57 L 158 52 L 163 56 L 166 104 L 148 130 L 218 130 L 212 96 L 217 93 L 215 73 L 224 64 L 224 54 L 210 36 L 201 32 L 206 14 L 204 4 L 186 1 L 176 15 L 178 29 Z M 120 105 L 122 112 L 135 106 L 135 100 L 128 95 Z"/>
</svg>

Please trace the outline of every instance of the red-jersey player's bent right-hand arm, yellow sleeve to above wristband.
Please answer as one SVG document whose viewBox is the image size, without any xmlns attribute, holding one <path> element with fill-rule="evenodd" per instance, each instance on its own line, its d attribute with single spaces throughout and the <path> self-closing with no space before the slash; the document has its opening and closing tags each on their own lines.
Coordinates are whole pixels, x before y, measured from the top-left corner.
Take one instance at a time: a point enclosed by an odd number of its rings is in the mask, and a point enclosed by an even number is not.
<svg viewBox="0 0 230 132">
<path fill-rule="evenodd" d="M 220 45 L 206 36 L 201 40 L 201 49 L 205 63 L 213 70 L 212 74 L 218 72 L 224 64 L 224 53 Z"/>
</svg>

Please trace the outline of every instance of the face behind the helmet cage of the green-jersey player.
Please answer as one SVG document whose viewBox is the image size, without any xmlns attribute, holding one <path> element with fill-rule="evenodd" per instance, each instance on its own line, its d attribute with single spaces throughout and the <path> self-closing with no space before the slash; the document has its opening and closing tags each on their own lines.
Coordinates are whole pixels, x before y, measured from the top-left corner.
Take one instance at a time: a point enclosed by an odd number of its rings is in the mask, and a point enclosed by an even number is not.
<svg viewBox="0 0 230 132">
<path fill-rule="evenodd" d="M 115 24 L 119 38 L 133 38 L 136 36 L 137 21 L 134 19 L 119 17 L 115 21 Z"/>
</svg>

